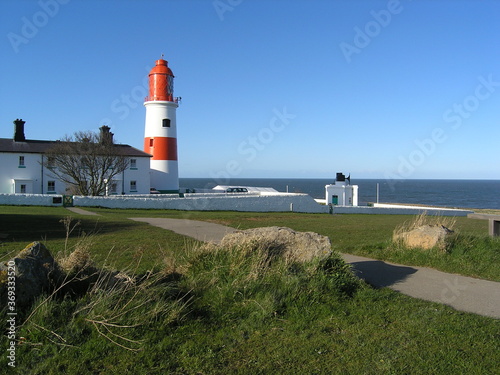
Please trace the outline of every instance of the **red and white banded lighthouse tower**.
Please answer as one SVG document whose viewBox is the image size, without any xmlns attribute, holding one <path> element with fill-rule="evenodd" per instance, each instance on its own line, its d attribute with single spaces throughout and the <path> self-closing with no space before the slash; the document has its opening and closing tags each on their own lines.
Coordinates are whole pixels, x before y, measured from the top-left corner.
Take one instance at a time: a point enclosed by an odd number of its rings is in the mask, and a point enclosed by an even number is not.
<svg viewBox="0 0 500 375">
<path fill-rule="evenodd" d="M 144 106 L 144 152 L 153 155 L 150 165 L 151 187 L 160 193 L 178 193 L 175 111 L 179 105 L 178 98 L 174 97 L 174 74 L 163 55 L 156 60 L 149 73 L 149 96 Z"/>
</svg>

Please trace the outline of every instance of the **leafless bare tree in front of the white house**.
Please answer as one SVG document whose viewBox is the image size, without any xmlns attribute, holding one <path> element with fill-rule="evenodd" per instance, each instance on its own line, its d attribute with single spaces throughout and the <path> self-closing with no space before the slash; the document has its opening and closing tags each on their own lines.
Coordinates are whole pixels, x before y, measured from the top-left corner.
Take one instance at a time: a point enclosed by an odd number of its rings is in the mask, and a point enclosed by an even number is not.
<svg viewBox="0 0 500 375">
<path fill-rule="evenodd" d="M 45 152 L 43 166 L 55 178 L 73 187 L 76 194 L 104 195 L 113 178 L 128 168 L 124 148 L 113 143 L 113 133 L 76 132 L 54 143 Z"/>
</svg>

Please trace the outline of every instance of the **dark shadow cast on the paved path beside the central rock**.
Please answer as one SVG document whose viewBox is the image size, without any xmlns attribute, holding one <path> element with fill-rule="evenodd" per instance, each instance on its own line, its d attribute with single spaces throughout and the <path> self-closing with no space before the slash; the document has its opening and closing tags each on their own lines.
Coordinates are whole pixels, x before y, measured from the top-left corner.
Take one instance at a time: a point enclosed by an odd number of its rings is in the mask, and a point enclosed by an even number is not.
<svg viewBox="0 0 500 375">
<path fill-rule="evenodd" d="M 415 268 L 394 266 L 381 260 L 354 262 L 351 265 L 357 277 L 377 288 L 389 287 L 417 272 Z"/>
</svg>

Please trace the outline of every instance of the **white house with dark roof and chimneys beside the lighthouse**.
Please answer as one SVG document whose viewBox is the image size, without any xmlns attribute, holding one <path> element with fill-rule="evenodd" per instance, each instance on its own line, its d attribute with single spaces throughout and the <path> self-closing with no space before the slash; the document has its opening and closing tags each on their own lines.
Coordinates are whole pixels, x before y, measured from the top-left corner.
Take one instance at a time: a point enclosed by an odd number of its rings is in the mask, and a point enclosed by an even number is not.
<svg viewBox="0 0 500 375">
<path fill-rule="evenodd" d="M 56 141 L 30 140 L 24 136 L 24 121 L 14 121 L 14 137 L 0 138 L 0 194 L 67 194 L 70 189 L 44 168 L 47 151 Z M 102 127 L 101 132 L 109 131 Z M 129 166 L 108 184 L 108 194 L 149 194 L 150 154 L 129 145 L 115 145 L 127 156 Z"/>
</svg>

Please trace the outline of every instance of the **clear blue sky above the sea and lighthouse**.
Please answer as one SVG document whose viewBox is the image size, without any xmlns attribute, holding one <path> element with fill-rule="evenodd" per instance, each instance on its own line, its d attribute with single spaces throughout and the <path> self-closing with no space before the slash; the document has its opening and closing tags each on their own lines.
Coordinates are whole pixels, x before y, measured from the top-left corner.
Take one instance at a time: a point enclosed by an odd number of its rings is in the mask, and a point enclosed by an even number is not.
<svg viewBox="0 0 500 375">
<path fill-rule="evenodd" d="M 142 149 L 175 75 L 181 177 L 500 179 L 500 1 L 2 0 L 0 137 Z"/>
</svg>

